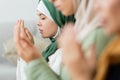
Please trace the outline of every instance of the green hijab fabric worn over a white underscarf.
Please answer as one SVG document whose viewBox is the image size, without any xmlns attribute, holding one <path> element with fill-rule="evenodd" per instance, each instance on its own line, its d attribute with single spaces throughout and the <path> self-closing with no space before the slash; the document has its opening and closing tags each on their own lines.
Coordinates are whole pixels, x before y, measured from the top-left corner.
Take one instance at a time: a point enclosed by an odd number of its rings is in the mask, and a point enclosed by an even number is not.
<svg viewBox="0 0 120 80">
<path fill-rule="evenodd" d="M 61 12 L 59 12 L 52 3 L 48 0 L 43 0 L 46 8 L 48 9 L 52 19 L 58 25 L 58 27 L 63 28 L 63 26 L 68 22 L 75 22 L 74 15 L 71 16 L 63 16 Z M 55 53 L 58 49 L 57 41 L 55 38 L 49 38 L 51 40 L 51 44 L 42 52 L 43 57 L 48 60 L 48 57 Z"/>
</svg>

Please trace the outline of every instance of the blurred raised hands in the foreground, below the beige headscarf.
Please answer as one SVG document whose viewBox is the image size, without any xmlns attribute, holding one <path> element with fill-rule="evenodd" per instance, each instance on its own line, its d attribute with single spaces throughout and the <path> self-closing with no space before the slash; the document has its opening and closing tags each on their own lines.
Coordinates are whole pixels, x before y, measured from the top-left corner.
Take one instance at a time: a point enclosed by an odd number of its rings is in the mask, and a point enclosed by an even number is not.
<svg viewBox="0 0 120 80">
<path fill-rule="evenodd" d="M 59 47 L 63 50 L 63 63 L 70 72 L 73 80 L 90 80 L 96 67 L 94 47 L 90 47 L 91 55 L 85 55 L 81 44 L 76 40 L 76 33 L 72 24 L 65 26 L 58 38 Z"/>
</svg>

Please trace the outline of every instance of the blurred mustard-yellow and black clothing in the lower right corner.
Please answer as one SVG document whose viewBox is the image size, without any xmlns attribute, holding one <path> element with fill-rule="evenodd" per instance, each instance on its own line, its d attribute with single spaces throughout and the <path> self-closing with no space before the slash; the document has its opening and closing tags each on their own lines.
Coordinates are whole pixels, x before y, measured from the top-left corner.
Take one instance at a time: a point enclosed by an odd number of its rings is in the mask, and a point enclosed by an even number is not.
<svg viewBox="0 0 120 80">
<path fill-rule="evenodd" d="M 100 56 L 98 60 L 97 74 L 95 76 L 95 80 L 120 80 L 119 74 L 120 74 L 120 37 L 114 39 L 108 45 L 108 47 L 105 48 L 105 51 Z"/>
</svg>

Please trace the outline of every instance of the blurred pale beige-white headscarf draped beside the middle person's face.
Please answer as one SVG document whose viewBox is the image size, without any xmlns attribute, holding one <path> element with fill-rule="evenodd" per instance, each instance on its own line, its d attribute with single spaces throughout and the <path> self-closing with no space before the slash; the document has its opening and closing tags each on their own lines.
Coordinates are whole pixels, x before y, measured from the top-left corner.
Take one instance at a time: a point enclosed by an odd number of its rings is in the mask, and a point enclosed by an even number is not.
<svg viewBox="0 0 120 80">
<path fill-rule="evenodd" d="M 100 27 L 98 21 L 99 16 L 94 12 L 94 2 L 95 0 L 80 0 L 79 2 L 75 14 L 75 30 L 78 41 L 83 41 L 88 34 Z"/>
</svg>

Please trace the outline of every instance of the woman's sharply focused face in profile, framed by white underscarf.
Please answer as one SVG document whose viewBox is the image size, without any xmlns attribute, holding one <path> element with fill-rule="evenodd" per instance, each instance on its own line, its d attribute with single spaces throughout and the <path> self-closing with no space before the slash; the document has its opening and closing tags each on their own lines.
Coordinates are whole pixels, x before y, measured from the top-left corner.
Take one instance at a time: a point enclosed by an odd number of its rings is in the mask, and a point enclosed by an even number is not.
<svg viewBox="0 0 120 80">
<path fill-rule="evenodd" d="M 57 25 L 44 14 L 38 11 L 39 20 L 37 25 L 43 38 L 53 37 L 57 33 Z"/>
</svg>

